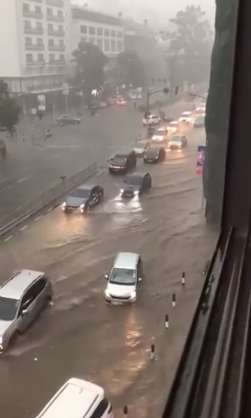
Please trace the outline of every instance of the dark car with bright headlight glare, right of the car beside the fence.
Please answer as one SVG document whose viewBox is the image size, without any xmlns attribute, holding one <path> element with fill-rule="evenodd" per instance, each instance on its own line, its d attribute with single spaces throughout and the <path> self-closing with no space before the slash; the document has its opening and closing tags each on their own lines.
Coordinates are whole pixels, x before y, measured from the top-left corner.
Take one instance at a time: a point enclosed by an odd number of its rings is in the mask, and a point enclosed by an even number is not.
<svg viewBox="0 0 251 418">
<path fill-rule="evenodd" d="M 132 198 L 141 196 L 152 187 L 152 177 L 149 173 L 128 174 L 124 180 L 124 187 L 121 189 L 121 197 Z"/>
</svg>

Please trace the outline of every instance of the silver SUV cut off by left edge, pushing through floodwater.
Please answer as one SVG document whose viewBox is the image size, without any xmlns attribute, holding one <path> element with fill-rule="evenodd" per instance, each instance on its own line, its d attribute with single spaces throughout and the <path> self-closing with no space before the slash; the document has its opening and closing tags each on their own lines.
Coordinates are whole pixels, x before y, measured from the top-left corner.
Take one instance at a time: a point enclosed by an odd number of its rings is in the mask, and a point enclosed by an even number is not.
<svg viewBox="0 0 251 418">
<path fill-rule="evenodd" d="M 51 301 L 49 279 L 41 271 L 21 270 L 0 287 L 0 352 L 17 333 L 24 333 Z"/>
</svg>

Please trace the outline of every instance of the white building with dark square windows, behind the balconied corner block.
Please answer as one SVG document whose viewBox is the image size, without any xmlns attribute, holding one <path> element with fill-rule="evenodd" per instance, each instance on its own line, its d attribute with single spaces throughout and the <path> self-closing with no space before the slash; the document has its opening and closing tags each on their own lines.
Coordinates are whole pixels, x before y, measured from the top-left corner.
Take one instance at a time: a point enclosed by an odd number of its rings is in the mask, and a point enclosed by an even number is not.
<svg viewBox="0 0 251 418">
<path fill-rule="evenodd" d="M 124 31 L 121 17 L 78 6 L 73 6 L 71 13 L 71 51 L 77 49 L 80 42 L 91 42 L 98 45 L 108 58 L 114 58 L 123 52 Z"/>
</svg>

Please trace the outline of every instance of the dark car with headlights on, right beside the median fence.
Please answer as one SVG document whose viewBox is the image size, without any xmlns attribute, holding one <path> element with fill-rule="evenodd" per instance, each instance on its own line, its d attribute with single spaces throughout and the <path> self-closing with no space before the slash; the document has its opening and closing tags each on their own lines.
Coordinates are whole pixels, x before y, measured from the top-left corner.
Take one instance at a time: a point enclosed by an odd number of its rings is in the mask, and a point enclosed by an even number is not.
<svg viewBox="0 0 251 418">
<path fill-rule="evenodd" d="M 82 185 L 73 190 L 62 204 L 64 212 L 85 213 L 93 206 L 101 203 L 104 190 L 100 185 Z"/>
</svg>

